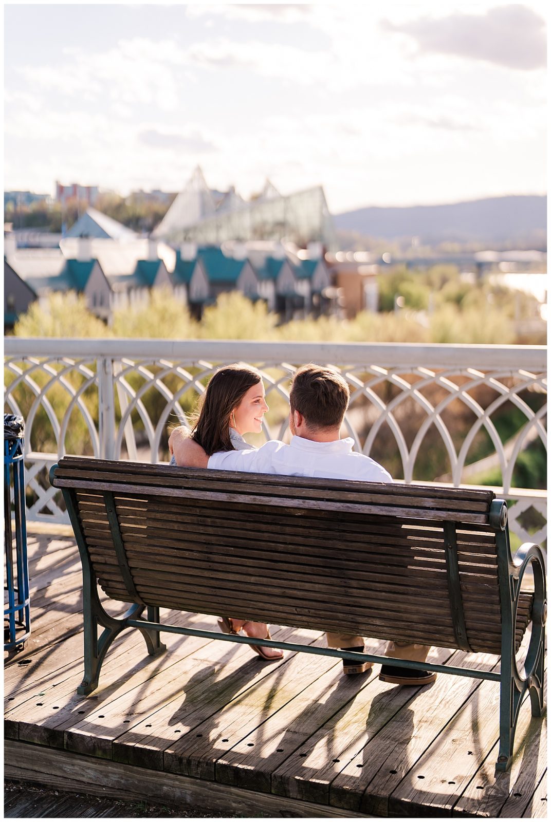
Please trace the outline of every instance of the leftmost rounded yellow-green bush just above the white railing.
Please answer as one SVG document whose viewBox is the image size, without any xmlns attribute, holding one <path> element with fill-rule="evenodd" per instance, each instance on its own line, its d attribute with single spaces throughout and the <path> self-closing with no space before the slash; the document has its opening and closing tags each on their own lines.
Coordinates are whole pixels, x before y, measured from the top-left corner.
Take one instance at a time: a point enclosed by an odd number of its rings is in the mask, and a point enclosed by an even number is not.
<svg viewBox="0 0 551 822">
<path fill-rule="evenodd" d="M 88 311 L 86 298 L 50 292 L 46 304 L 31 302 L 14 327 L 16 337 L 108 337 L 108 328 Z M 37 352 L 39 353 L 39 352 Z"/>
</svg>

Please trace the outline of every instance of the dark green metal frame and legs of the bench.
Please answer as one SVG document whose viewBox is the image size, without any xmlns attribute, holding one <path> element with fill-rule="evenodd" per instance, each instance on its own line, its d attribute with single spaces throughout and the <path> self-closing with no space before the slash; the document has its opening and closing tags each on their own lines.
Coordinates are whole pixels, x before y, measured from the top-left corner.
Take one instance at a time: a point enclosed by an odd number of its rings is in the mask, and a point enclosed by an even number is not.
<svg viewBox="0 0 551 822">
<path fill-rule="evenodd" d="M 50 469 L 50 482 L 53 485 L 55 485 L 54 472 L 56 468 L 57 465 L 53 465 L 52 469 Z M 451 665 L 427 662 L 418 663 L 407 659 L 385 657 L 373 653 L 344 652 L 338 649 L 317 648 L 312 645 L 277 642 L 276 640 L 260 640 L 249 636 L 222 634 L 209 630 L 196 630 L 174 625 L 164 625 L 160 622 L 159 607 L 146 606 L 139 601 L 138 603 L 132 604 L 122 617 L 110 617 L 100 603 L 97 582 L 86 547 L 86 538 L 77 515 L 76 492 L 67 487 L 63 487 L 62 491 L 67 505 L 67 512 L 75 532 L 76 543 L 82 563 L 85 672 L 81 685 L 76 689 L 80 695 L 89 695 L 97 688 L 101 665 L 115 637 L 127 628 L 137 628 L 143 634 L 146 640 L 147 652 L 151 656 L 156 656 L 166 649 L 166 645 L 160 641 L 160 633 L 165 631 L 171 634 L 204 637 L 209 640 L 262 645 L 267 648 L 354 659 L 359 663 L 381 663 L 413 670 L 451 673 L 460 677 L 499 682 L 500 732 L 498 761 L 496 763 L 497 771 L 506 771 L 511 764 L 516 723 L 521 704 L 526 696 L 526 691 L 530 694 L 532 716 L 541 717 L 544 713 L 544 625 L 547 616 L 544 556 L 539 546 L 533 543 L 525 543 L 518 549 L 514 559 L 512 558 L 507 527 L 507 504 L 503 500 L 493 500 L 488 517 L 488 524 L 490 524 L 496 532 L 498 550 L 498 580 L 502 621 L 501 669 L 498 673 L 477 671 Z M 105 501 L 109 512 L 108 494 L 109 492 L 105 494 Z M 109 523 L 111 525 L 113 542 L 120 556 L 121 552 L 124 552 L 124 547 L 122 537 L 118 530 L 116 512 L 114 510 L 113 515 L 109 514 Z M 470 647 L 467 641 L 461 603 L 454 523 L 444 523 L 444 539 L 447 546 L 447 577 L 457 647 L 469 651 Z M 523 673 L 521 673 L 515 653 L 516 608 L 519 594 L 521 593 L 522 578 L 528 566 L 531 566 L 534 575 L 534 603 L 531 613 L 532 631 L 530 643 L 524 665 L 522 666 L 524 670 Z M 138 595 L 137 599 L 140 599 Z M 141 619 L 140 617 L 145 610 L 147 610 L 147 619 Z M 104 630 L 98 637 L 99 627 L 102 627 Z M 382 637 L 382 639 L 384 639 L 384 637 Z"/>
</svg>

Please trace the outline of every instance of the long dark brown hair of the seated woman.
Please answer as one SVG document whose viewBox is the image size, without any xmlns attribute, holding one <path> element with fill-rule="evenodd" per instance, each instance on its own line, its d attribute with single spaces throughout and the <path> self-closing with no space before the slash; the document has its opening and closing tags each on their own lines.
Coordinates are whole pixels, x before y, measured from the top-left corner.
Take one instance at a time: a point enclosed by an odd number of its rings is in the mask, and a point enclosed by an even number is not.
<svg viewBox="0 0 551 822">
<path fill-rule="evenodd" d="M 192 438 L 207 455 L 234 450 L 229 439 L 229 418 L 249 388 L 259 382 L 262 382 L 260 372 L 244 365 L 226 365 L 211 377 L 199 400 L 197 418 L 192 426 Z"/>
</svg>

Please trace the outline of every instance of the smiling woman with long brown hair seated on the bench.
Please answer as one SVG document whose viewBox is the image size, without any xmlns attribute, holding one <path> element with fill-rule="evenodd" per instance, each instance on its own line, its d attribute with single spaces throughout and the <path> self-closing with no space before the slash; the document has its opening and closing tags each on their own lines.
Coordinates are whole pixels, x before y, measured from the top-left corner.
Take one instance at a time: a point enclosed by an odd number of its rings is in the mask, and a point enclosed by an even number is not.
<svg viewBox="0 0 551 822">
<path fill-rule="evenodd" d="M 252 448 L 243 440 L 243 434 L 260 433 L 262 417 L 268 410 L 262 375 L 256 368 L 241 365 L 219 368 L 201 396 L 191 436 L 209 456 L 216 451 Z M 176 464 L 174 456 L 170 464 Z M 248 636 L 271 640 L 265 622 L 220 617 L 218 625 L 225 634 L 239 634 L 244 630 Z M 283 657 L 279 649 L 250 647 L 270 662 Z"/>
</svg>

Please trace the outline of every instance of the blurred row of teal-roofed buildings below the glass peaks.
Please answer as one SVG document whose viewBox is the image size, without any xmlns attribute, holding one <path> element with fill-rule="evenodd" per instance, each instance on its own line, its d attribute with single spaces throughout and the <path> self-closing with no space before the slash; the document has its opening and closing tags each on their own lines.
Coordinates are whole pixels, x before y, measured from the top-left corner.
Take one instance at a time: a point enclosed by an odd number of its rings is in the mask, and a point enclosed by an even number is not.
<svg viewBox="0 0 551 822">
<path fill-rule="evenodd" d="M 145 304 L 151 289 L 169 289 L 195 316 L 225 291 L 263 299 L 284 319 L 335 307 L 336 289 L 322 247 L 301 250 L 281 242 L 183 242 L 177 247 L 140 238 L 88 209 L 58 247 L 21 248 L 5 237 L 5 325 L 30 302 L 55 291 L 83 294 L 104 321 L 113 311 Z"/>
</svg>

